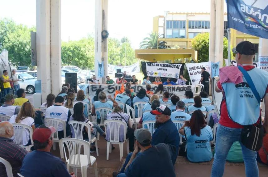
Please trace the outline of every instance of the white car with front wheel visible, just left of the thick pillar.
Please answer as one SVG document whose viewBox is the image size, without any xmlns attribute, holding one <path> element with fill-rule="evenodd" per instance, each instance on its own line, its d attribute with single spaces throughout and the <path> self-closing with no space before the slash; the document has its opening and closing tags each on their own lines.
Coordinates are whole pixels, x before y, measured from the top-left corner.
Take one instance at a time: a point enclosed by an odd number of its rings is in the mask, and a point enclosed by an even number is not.
<svg viewBox="0 0 268 177">
<path fill-rule="evenodd" d="M 27 73 L 16 73 L 18 76 L 18 79 L 20 79 L 20 88 L 23 88 L 28 92 L 28 94 L 34 94 L 35 93 L 35 81 L 37 80 L 32 75 L 29 75 Z"/>
</svg>

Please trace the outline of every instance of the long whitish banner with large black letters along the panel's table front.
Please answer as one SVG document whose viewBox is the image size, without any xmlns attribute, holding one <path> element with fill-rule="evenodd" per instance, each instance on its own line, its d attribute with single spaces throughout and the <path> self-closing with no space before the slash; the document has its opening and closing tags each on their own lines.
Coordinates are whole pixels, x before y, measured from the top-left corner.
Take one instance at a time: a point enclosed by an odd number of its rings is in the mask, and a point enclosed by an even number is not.
<svg viewBox="0 0 268 177">
<path fill-rule="evenodd" d="M 156 88 L 158 85 L 151 85 L 151 91 L 155 92 Z M 146 85 L 132 85 L 132 89 L 134 92 L 138 93 L 141 88 L 145 88 Z M 103 92 L 106 93 L 106 95 L 112 95 L 114 96 L 114 93 L 116 90 L 120 90 L 121 85 L 107 85 L 107 84 L 102 84 L 102 85 L 89 85 L 89 95 L 93 98 L 96 94 L 96 91 L 98 88 L 103 89 Z M 193 93 L 195 91 L 195 85 L 172 85 L 172 86 L 167 86 L 164 85 L 164 91 L 167 91 L 170 93 L 170 97 L 172 95 L 180 95 L 184 96 L 185 91 L 191 90 Z M 146 89 L 146 88 L 145 88 Z"/>
</svg>

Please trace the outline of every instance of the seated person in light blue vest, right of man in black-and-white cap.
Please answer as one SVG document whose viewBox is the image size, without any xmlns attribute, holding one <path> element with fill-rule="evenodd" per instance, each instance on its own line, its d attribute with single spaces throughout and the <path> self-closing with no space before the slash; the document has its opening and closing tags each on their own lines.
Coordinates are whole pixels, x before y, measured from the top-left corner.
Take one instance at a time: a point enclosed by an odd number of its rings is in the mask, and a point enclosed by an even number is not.
<svg viewBox="0 0 268 177">
<path fill-rule="evenodd" d="M 185 103 L 183 101 L 178 101 L 176 103 L 176 111 L 171 112 L 170 119 L 171 120 L 181 120 L 187 121 L 191 119 L 191 116 L 184 112 L 185 110 Z"/>
</svg>

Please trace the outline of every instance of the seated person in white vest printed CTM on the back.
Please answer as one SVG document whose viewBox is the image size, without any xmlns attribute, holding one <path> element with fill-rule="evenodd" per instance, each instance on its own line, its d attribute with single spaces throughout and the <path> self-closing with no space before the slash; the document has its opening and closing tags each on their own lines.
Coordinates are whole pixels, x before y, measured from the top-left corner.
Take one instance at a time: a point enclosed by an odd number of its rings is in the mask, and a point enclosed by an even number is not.
<svg viewBox="0 0 268 177">
<path fill-rule="evenodd" d="M 64 103 L 64 98 L 62 96 L 57 96 L 55 98 L 55 104 L 47 108 L 47 110 L 45 111 L 45 118 L 55 118 L 55 119 L 60 119 L 60 120 L 65 121 L 66 122 L 66 136 L 69 136 L 71 134 L 71 129 L 70 129 L 70 125 L 68 124 L 68 122 L 72 114 L 71 114 L 71 111 L 67 107 L 63 106 L 63 103 Z M 62 124 L 59 124 L 58 129 L 57 129 L 59 139 L 64 138 L 64 133 L 63 133 L 64 128 L 65 127 L 63 127 Z"/>
</svg>

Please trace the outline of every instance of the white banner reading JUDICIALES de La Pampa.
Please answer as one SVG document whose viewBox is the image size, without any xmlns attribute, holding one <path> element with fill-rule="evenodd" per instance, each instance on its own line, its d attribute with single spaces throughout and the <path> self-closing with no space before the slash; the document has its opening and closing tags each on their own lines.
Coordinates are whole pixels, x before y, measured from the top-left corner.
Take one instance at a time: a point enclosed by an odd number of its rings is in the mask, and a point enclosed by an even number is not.
<svg viewBox="0 0 268 177">
<path fill-rule="evenodd" d="M 186 63 L 186 67 L 191 79 L 192 85 L 199 84 L 201 79 L 201 68 L 205 67 L 206 71 L 211 75 L 211 62 L 203 62 L 203 63 Z"/>
</svg>

